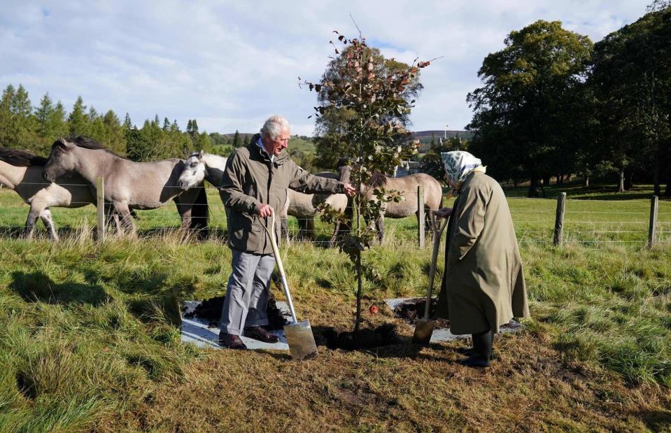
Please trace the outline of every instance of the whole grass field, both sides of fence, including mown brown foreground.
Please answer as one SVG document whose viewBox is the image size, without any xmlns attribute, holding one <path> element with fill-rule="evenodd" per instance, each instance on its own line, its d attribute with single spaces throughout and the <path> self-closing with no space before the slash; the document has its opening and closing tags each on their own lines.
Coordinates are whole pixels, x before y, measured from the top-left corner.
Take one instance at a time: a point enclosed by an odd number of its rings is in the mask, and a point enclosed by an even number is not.
<svg viewBox="0 0 671 433">
<path fill-rule="evenodd" d="M 411 218 L 366 253 L 381 278 L 364 304 L 381 313 L 365 326 L 394 323 L 401 343 L 320 347 L 304 362 L 183 346 L 180 301 L 223 294 L 230 271 L 209 193 L 211 241 L 157 231 L 178 226 L 171 204 L 140 213 L 139 239 L 103 244 L 92 206 L 55 208 L 55 244 L 10 237 L 27 206 L 0 190 L 0 431 L 671 431 L 671 203 L 660 203 L 661 242 L 644 248 L 649 191 L 570 193 L 563 248 L 551 246 L 556 201 L 509 199 L 532 318 L 497 336 L 485 370 L 456 363 L 462 342 L 414 346 L 383 307 L 425 293 L 430 249 L 415 246 Z M 283 255 L 299 316 L 316 332 L 349 329 L 346 257 L 309 243 Z"/>
</svg>

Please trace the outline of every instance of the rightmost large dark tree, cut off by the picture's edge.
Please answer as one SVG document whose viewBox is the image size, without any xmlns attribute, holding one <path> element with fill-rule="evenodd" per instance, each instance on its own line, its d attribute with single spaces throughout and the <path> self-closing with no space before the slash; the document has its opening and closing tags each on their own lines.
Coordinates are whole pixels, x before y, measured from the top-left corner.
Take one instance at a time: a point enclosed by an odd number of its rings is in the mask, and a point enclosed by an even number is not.
<svg viewBox="0 0 671 433">
<path fill-rule="evenodd" d="M 600 148 L 620 173 L 621 192 L 635 169 L 652 173 L 655 194 L 663 174 L 671 183 L 671 7 L 651 10 L 595 44 L 588 80 Z"/>
</svg>

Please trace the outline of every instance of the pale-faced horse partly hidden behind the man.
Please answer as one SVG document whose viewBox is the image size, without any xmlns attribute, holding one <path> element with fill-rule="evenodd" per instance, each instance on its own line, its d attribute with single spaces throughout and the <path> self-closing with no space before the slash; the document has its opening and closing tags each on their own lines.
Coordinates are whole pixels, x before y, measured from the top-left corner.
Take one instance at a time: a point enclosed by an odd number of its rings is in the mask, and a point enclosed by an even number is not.
<svg viewBox="0 0 671 433">
<path fill-rule="evenodd" d="M 226 169 L 226 162 L 227 158 L 213 155 L 204 150 L 193 152 L 186 160 L 184 171 L 179 176 L 178 184 L 180 187 L 188 189 L 202 183 L 203 180 L 207 180 L 215 187 L 220 187 L 221 178 Z M 336 173 L 327 172 L 317 173 L 316 176 L 332 179 L 339 178 L 339 175 Z M 347 206 L 347 196 L 345 194 L 303 194 L 302 192 L 288 189 L 284 207 L 278 210 L 283 236 L 288 233 L 288 215 L 295 216 L 298 219 L 299 236 L 305 234 L 305 232 L 309 234 L 313 233 L 314 215 L 317 213 L 316 207 L 324 202 L 333 206 L 337 211 L 344 211 Z M 334 242 L 334 236 L 337 234 L 338 228 L 338 225 L 336 225 L 330 245 Z"/>
</svg>

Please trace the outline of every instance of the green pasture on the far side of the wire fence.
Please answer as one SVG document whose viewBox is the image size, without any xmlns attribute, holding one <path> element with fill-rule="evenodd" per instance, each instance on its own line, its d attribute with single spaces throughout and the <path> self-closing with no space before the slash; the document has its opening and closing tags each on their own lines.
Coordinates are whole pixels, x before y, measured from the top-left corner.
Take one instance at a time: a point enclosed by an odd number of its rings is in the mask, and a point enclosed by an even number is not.
<svg viewBox="0 0 671 433">
<path fill-rule="evenodd" d="M 571 189 L 572 188 L 572 189 Z M 550 188 L 548 188 L 550 190 Z M 558 188 L 553 187 L 553 192 Z M 565 210 L 564 242 L 588 248 L 604 248 L 607 245 L 640 248 L 648 240 L 651 189 L 641 188 L 635 199 L 619 199 L 618 194 L 609 193 L 609 199 L 601 199 L 605 191 L 600 187 L 591 193 L 581 192 L 581 187 L 570 187 L 567 192 Z M 210 212 L 209 229 L 212 237 L 225 236 L 226 215 L 218 192 L 207 188 Z M 519 197 L 519 190 L 507 190 L 509 206 L 516 234 L 520 243 L 551 244 L 556 215 L 556 198 L 527 199 Z M 632 193 L 634 194 L 634 193 Z M 550 194 L 550 191 L 548 193 Z M 556 194 L 554 194 L 556 196 Z M 593 197 L 600 197 L 595 199 Z M 413 197 L 409 197 L 413 199 Z M 450 206 L 452 200 L 444 206 Z M 0 233 L 16 236 L 27 217 L 28 206 L 10 190 L 0 190 Z M 661 200 L 658 211 L 658 241 L 671 242 L 671 201 Z M 136 226 L 141 235 L 178 229 L 180 218 L 176 206 L 166 206 L 150 211 L 138 211 Z M 94 206 L 66 209 L 52 208 L 52 215 L 59 229 L 65 234 L 90 236 L 94 232 L 96 214 Z M 38 234 L 45 234 L 38 222 Z M 289 219 L 290 233 L 296 234 L 297 221 Z M 393 243 L 416 242 L 416 218 L 386 220 L 388 241 Z M 315 241 L 323 243 L 330 237 L 331 227 L 317 222 Z"/>
</svg>

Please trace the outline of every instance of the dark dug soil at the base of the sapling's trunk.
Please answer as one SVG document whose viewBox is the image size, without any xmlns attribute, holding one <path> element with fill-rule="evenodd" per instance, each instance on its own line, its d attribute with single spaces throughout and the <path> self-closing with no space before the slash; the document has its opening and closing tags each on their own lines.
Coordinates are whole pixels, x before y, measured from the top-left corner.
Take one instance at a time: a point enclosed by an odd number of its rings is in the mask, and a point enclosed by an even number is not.
<svg viewBox="0 0 671 433">
<path fill-rule="evenodd" d="M 359 350 L 390 346 L 401 342 L 396 325 L 385 323 L 376 328 L 359 329 L 357 334 L 351 331 L 338 332 L 332 327 L 313 327 L 317 346 L 330 349 Z"/>
</svg>

